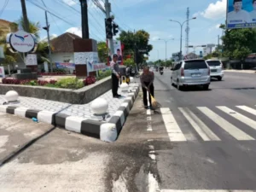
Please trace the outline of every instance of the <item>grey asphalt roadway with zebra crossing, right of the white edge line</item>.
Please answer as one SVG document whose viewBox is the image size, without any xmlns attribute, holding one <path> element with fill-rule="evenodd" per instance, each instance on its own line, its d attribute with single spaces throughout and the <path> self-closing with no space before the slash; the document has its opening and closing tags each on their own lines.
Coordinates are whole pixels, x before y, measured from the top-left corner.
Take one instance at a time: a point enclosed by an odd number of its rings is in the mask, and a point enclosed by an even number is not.
<svg viewBox="0 0 256 192">
<path fill-rule="evenodd" d="M 256 74 L 225 73 L 210 90 L 179 91 L 171 73 L 154 81 L 160 189 L 256 190 Z"/>
</svg>

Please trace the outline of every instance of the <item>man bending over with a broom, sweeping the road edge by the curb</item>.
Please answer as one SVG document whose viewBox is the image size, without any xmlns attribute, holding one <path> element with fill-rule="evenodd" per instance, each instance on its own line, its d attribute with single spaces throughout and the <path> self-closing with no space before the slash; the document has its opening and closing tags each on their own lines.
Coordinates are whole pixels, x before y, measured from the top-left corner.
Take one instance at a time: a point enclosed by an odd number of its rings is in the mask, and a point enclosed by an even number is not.
<svg viewBox="0 0 256 192">
<path fill-rule="evenodd" d="M 143 86 L 143 103 L 144 108 L 148 108 L 148 100 L 150 108 L 152 108 L 151 96 L 154 96 L 154 73 L 149 71 L 149 67 L 143 67 L 143 74 L 141 75 L 141 84 Z M 147 98 L 148 93 L 148 98 Z"/>
</svg>

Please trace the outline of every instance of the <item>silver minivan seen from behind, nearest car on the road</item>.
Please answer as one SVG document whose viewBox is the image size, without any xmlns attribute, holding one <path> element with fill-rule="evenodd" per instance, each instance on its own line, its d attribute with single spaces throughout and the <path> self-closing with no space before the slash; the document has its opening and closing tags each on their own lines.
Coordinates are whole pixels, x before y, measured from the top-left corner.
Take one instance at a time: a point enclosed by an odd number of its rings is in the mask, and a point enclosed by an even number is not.
<svg viewBox="0 0 256 192">
<path fill-rule="evenodd" d="M 208 90 L 211 84 L 210 68 L 201 59 L 180 61 L 172 68 L 171 81 L 178 90 L 189 85 L 202 85 L 204 90 Z"/>
</svg>

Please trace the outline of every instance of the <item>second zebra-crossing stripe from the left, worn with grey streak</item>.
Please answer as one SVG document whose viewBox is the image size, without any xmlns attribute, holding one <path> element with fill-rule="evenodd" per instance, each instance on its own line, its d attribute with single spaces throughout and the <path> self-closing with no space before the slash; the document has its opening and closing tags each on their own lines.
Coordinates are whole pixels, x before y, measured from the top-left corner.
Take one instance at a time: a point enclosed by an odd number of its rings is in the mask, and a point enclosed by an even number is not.
<svg viewBox="0 0 256 192">
<path fill-rule="evenodd" d="M 220 139 L 199 119 L 195 113 L 189 108 L 178 108 L 189 123 L 194 127 L 195 131 L 201 136 L 204 141 L 220 141 Z"/>
</svg>

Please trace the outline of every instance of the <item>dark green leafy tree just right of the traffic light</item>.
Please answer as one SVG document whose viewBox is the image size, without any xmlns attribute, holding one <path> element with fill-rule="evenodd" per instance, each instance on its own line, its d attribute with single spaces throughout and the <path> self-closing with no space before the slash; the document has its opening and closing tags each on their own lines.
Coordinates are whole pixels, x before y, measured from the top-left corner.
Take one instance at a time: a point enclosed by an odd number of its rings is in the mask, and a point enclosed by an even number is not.
<svg viewBox="0 0 256 192">
<path fill-rule="evenodd" d="M 122 42 L 122 44 L 125 45 L 124 49 L 124 56 L 127 55 L 133 55 L 134 58 L 136 58 L 136 62 L 143 63 L 144 61 L 144 54 L 147 54 L 150 52 L 150 50 L 153 49 L 153 46 L 151 44 L 148 44 L 149 42 L 149 33 L 145 32 L 144 30 L 139 30 L 137 32 L 121 32 L 119 36 L 119 40 Z M 140 49 L 146 50 L 145 53 L 139 52 Z"/>
</svg>

